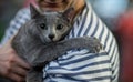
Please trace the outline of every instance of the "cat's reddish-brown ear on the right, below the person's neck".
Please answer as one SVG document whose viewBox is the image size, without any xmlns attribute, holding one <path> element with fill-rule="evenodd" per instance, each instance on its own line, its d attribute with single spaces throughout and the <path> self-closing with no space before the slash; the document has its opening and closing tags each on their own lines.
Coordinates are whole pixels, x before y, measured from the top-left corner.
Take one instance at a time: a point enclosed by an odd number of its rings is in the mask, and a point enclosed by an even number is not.
<svg viewBox="0 0 133 82">
<path fill-rule="evenodd" d="M 74 13 L 75 13 L 74 8 L 71 7 L 63 12 L 63 17 L 68 18 L 69 21 L 72 22 L 74 19 Z"/>
</svg>

